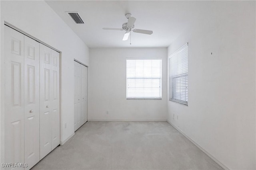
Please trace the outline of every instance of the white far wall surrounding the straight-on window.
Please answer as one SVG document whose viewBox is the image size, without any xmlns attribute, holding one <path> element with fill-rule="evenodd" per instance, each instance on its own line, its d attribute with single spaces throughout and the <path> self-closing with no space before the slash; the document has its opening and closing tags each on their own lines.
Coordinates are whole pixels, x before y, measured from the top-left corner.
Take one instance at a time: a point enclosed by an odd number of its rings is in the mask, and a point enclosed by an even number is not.
<svg viewBox="0 0 256 170">
<path fill-rule="evenodd" d="M 126 100 L 126 58 L 143 57 L 162 58 L 162 100 Z M 167 48 L 90 49 L 88 119 L 166 120 L 166 58 Z"/>
</svg>

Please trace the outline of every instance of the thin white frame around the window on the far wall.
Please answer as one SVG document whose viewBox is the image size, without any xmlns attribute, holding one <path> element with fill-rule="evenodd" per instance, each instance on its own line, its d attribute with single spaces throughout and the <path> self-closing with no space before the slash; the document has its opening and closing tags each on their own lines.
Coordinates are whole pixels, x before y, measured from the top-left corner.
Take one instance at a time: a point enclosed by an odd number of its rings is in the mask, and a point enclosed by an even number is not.
<svg viewBox="0 0 256 170">
<path fill-rule="evenodd" d="M 160 98 L 152 98 L 152 97 L 143 97 L 143 98 L 131 98 L 131 97 L 127 97 L 127 60 L 161 60 L 161 97 Z M 163 63 L 162 63 L 162 58 L 126 58 L 126 99 L 127 100 L 162 100 L 162 96 L 163 96 L 163 91 L 162 91 L 162 81 L 163 81 L 163 76 L 162 76 L 162 72 L 163 72 Z"/>
</svg>

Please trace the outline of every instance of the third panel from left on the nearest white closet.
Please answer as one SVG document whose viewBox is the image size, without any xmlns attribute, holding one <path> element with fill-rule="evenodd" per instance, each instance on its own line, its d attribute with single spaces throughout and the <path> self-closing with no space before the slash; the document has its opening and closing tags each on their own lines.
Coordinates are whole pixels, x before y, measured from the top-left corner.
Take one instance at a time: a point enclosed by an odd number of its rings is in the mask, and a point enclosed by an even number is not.
<svg viewBox="0 0 256 170">
<path fill-rule="evenodd" d="M 52 150 L 51 49 L 40 44 L 40 160 Z"/>
</svg>

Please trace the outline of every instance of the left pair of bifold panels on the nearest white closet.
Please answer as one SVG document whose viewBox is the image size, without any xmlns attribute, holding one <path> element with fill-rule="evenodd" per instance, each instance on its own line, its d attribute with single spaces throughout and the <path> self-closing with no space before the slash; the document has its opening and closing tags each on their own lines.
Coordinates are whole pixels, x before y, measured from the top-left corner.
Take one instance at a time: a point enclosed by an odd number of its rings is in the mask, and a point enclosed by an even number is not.
<svg viewBox="0 0 256 170">
<path fill-rule="evenodd" d="M 5 26 L 5 160 L 39 161 L 39 44 Z M 14 168 L 15 169 L 15 168 Z M 18 168 L 24 169 L 24 168 Z"/>
</svg>

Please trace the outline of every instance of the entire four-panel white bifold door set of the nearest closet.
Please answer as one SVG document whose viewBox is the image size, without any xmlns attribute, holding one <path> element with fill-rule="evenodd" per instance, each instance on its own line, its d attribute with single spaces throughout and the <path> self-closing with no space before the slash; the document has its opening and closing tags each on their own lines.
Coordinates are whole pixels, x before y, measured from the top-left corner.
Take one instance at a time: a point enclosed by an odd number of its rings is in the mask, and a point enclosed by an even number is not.
<svg viewBox="0 0 256 170">
<path fill-rule="evenodd" d="M 60 144 L 60 55 L 4 31 L 4 162 L 30 169 Z"/>
</svg>

